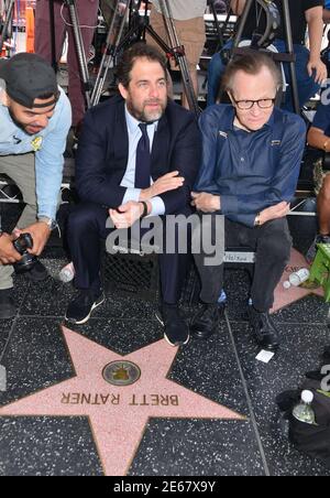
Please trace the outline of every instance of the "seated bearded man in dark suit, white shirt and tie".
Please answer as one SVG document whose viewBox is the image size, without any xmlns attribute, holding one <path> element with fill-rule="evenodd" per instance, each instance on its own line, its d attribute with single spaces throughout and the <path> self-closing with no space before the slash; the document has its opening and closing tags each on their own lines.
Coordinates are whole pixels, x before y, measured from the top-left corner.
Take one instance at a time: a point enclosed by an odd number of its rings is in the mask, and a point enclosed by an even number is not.
<svg viewBox="0 0 330 498">
<path fill-rule="evenodd" d="M 66 313 L 76 324 L 86 323 L 105 301 L 100 238 L 111 232 L 106 229 L 109 215 L 116 228 L 130 228 L 145 216 L 188 216 L 200 164 L 194 115 L 167 99 L 165 57 L 136 44 L 123 55 L 118 78 L 121 96 L 88 111 L 79 141 L 76 180 L 82 203 L 68 227 L 79 293 Z M 160 255 L 158 318 L 173 346 L 189 340 L 178 312 L 188 257 L 178 252 Z"/>
</svg>

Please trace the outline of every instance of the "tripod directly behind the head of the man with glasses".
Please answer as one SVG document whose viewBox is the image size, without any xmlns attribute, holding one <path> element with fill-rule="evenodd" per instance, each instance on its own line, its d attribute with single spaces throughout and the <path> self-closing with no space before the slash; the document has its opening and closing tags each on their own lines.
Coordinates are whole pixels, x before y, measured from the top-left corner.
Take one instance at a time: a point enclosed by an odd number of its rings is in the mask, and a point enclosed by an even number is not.
<svg viewBox="0 0 330 498">
<path fill-rule="evenodd" d="M 253 48 L 239 48 L 240 41 L 242 40 L 242 34 L 244 32 L 244 28 L 248 21 L 249 13 L 251 11 L 252 4 L 255 0 L 246 0 L 245 9 L 242 13 L 241 22 L 234 39 L 232 55 L 244 55 L 246 52 L 253 51 Z M 296 55 L 294 52 L 294 43 L 293 43 L 293 31 L 290 23 L 290 12 L 288 7 L 288 0 L 282 0 L 283 6 L 283 14 L 284 14 L 284 28 L 285 28 L 285 41 L 286 41 L 286 50 L 287 52 L 284 54 L 274 54 L 268 53 L 271 57 L 275 62 L 279 63 L 288 63 L 290 67 L 290 78 L 292 78 L 292 95 L 294 108 L 297 115 L 300 113 L 299 106 L 299 94 L 298 94 L 298 84 L 297 84 L 297 75 L 295 69 Z"/>
</svg>

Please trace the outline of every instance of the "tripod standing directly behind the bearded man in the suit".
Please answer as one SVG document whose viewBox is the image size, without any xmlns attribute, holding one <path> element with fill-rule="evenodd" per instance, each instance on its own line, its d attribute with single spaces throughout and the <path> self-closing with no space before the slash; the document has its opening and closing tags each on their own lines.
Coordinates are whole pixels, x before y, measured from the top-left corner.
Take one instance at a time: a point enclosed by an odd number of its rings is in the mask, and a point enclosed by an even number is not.
<svg viewBox="0 0 330 498">
<path fill-rule="evenodd" d="M 113 62 L 114 57 L 118 53 L 120 53 L 127 45 L 130 45 L 132 43 L 132 40 L 134 41 L 145 41 L 145 34 L 148 33 L 157 43 L 157 45 L 166 53 L 167 57 L 175 58 L 176 63 L 180 67 L 180 72 L 183 75 L 183 84 L 185 88 L 185 94 L 187 96 L 187 100 L 189 104 L 189 108 L 196 113 L 198 117 L 200 113 L 200 109 L 198 106 L 197 97 L 195 95 L 193 82 L 190 78 L 187 58 L 185 54 L 185 47 L 180 45 L 177 32 L 174 25 L 173 17 L 170 9 L 168 7 L 167 0 L 160 0 L 164 22 L 169 35 L 170 46 L 168 46 L 160 36 L 158 34 L 153 30 L 153 28 L 150 25 L 150 19 L 148 19 L 148 11 L 147 11 L 147 4 L 145 6 L 145 12 L 144 17 L 141 17 L 139 13 L 139 8 L 141 4 L 141 0 L 131 0 L 130 1 L 130 30 L 125 34 L 124 39 L 121 41 L 124 23 L 125 23 L 125 17 L 123 18 L 121 22 L 121 26 L 117 36 L 117 41 L 112 44 L 112 34 L 113 29 L 116 24 L 116 19 L 112 19 L 111 26 L 109 30 L 109 34 L 107 37 L 107 47 L 105 52 L 105 56 L 99 69 L 99 75 L 97 78 L 97 83 L 92 93 L 92 105 L 97 105 L 99 102 L 103 84 L 106 80 L 107 73 L 109 71 L 109 67 L 111 65 L 111 62 Z"/>
</svg>

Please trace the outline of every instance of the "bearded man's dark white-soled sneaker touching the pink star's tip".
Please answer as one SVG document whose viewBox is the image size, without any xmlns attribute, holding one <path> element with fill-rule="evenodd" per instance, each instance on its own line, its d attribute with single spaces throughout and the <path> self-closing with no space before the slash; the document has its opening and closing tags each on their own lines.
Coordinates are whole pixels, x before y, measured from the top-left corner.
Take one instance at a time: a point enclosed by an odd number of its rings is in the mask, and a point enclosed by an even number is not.
<svg viewBox="0 0 330 498">
<path fill-rule="evenodd" d="M 164 338 L 170 346 L 186 346 L 189 343 L 189 328 L 176 305 L 163 304 L 156 312 L 156 318 L 165 327 Z"/>
</svg>

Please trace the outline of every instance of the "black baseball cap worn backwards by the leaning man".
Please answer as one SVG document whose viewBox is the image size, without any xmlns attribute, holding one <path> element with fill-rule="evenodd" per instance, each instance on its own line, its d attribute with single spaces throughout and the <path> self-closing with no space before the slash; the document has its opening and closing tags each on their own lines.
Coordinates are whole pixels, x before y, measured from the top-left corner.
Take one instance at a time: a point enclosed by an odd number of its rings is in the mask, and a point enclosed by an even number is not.
<svg viewBox="0 0 330 498">
<path fill-rule="evenodd" d="M 6 82 L 9 97 L 29 109 L 52 105 L 52 102 L 35 105 L 36 98 L 54 95 L 56 104 L 59 96 L 53 67 L 36 54 L 21 53 L 10 59 L 0 59 L 0 79 Z"/>
</svg>

